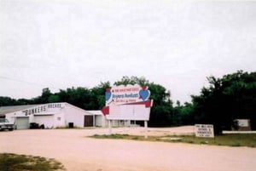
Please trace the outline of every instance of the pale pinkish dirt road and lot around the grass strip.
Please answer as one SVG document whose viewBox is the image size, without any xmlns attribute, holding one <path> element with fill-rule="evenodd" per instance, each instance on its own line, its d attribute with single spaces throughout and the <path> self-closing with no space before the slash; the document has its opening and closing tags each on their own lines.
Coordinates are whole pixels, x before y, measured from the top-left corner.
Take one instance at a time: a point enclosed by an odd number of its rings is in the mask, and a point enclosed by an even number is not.
<svg viewBox="0 0 256 171">
<path fill-rule="evenodd" d="M 190 133 L 189 128 L 174 129 L 150 128 L 148 134 Z M 113 133 L 143 134 L 143 128 L 113 128 Z M 0 132 L 0 152 L 55 158 L 68 171 L 254 171 L 256 168 L 256 148 L 96 140 L 86 137 L 90 134 L 108 134 L 108 128 Z"/>
</svg>

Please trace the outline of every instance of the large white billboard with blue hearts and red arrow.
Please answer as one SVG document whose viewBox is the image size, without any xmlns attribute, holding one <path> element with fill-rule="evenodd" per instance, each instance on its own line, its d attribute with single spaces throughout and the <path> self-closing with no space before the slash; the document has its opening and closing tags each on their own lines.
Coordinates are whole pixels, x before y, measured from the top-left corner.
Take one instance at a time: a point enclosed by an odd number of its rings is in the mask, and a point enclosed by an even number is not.
<svg viewBox="0 0 256 171">
<path fill-rule="evenodd" d="M 120 85 L 107 88 L 106 106 L 102 109 L 107 119 L 149 120 L 152 100 L 147 86 Z"/>
</svg>

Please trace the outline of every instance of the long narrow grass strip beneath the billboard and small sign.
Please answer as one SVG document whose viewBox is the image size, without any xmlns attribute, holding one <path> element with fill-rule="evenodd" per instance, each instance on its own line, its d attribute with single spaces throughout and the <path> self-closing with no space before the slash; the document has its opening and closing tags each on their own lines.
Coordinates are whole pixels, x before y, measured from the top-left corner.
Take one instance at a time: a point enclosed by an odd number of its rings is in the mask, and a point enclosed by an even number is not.
<svg viewBox="0 0 256 171">
<path fill-rule="evenodd" d="M 183 136 L 144 136 L 129 135 L 129 134 L 95 134 L 90 136 L 96 139 L 122 139 L 122 140 L 147 140 L 161 141 L 169 143 L 189 143 L 198 145 L 225 145 L 225 146 L 248 146 L 256 147 L 256 134 L 223 134 L 217 135 L 215 138 L 199 138 L 191 135 Z"/>
</svg>

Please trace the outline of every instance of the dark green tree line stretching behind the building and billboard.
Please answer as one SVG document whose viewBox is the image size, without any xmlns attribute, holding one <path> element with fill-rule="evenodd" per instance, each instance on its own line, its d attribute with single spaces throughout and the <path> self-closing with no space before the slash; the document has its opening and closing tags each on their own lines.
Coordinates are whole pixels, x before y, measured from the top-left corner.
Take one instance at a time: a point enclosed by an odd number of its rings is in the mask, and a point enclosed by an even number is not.
<svg viewBox="0 0 256 171">
<path fill-rule="evenodd" d="M 171 92 L 145 77 L 122 77 L 113 85 L 139 84 L 150 90 L 154 105 L 150 112 L 149 127 L 169 127 L 195 123 L 213 124 L 216 133 L 234 127 L 235 119 L 250 119 L 256 129 L 256 72 L 237 71 L 221 78 L 207 77 L 209 86 L 191 95 L 191 102 L 173 105 Z M 0 106 L 67 102 L 84 110 L 100 110 L 105 105 L 105 90 L 111 83 L 100 83 L 94 88 L 67 88 L 51 93 L 44 88 L 42 94 L 30 100 L 0 96 Z M 139 123 L 139 122 L 138 122 Z M 143 123 L 141 123 L 143 124 Z"/>
</svg>

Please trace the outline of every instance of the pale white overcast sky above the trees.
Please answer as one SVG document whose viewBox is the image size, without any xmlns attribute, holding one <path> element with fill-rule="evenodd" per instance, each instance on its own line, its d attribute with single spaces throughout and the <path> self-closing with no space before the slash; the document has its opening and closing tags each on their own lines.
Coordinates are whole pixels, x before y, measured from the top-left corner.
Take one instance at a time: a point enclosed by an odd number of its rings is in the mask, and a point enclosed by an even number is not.
<svg viewBox="0 0 256 171">
<path fill-rule="evenodd" d="M 0 96 L 137 76 L 185 102 L 255 54 L 256 2 L 0 0 Z"/>
</svg>

